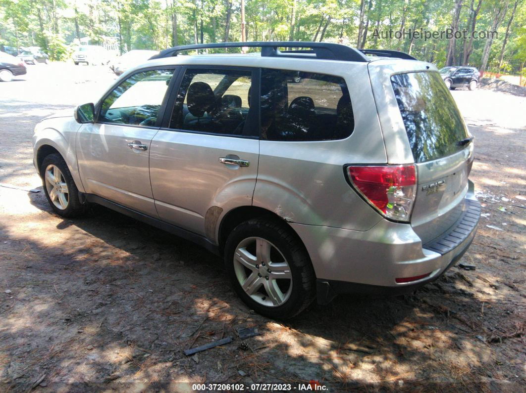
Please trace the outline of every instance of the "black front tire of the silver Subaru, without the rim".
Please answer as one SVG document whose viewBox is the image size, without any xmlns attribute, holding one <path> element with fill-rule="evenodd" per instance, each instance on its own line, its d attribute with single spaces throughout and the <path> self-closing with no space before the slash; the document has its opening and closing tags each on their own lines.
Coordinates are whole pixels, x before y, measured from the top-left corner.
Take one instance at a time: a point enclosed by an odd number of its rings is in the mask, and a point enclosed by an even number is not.
<svg viewBox="0 0 526 393">
<path fill-rule="evenodd" d="M 46 168 L 48 165 L 55 165 L 60 169 L 60 172 L 62 172 L 62 176 L 64 177 L 64 180 L 68 187 L 68 204 L 65 209 L 59 209 L 55 204 L 52 202 L 51 198 L 49 197 L 49 193 L 46 187 L 46 182 L 44 179 Z M 75 182 L 73 180 L 73 177 L 71 176 L 71 173 L 69 172 L 69 168 L 67 167 L 66 162 L 64 161 L 64 158 L 60 154 L 53 153 L 47 155 L 44 160 L 42 161 L 42 165 L 40 167 L 40 173 L 42 177 L 42 184 L 44 188 L 44 193 L 46 194 L 47 201 L 49 203 L 49 206 L 53 208 L 56 214 L 62 217 L 79 217 L 82 216 L 84 213 L 86 213 L 86 210 L 88 208 L 87 204 L 80 203 L 79 199 L 79 192 L 78 188 L 75 185 Z"/>
</svg>

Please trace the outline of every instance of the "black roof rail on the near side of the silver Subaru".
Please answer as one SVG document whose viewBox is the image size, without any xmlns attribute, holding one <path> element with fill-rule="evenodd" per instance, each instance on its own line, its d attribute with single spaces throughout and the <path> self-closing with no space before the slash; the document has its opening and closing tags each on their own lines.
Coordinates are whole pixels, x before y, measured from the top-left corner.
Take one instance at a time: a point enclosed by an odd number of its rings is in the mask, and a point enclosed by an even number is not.
<svg viewBox="0 0 526 393">
<path fill-rule="evenodd" d="M 150 57 L 150 60 L 177 56 L 179 52 L 186 50 L 242 47 L 261 48 L 261 56 L 263 57 L 295 57 L 304 59 L 316 58 L 323 60 L 361 62 L 369 61 L 367 56 L 363 55 L 362 52 L 346 45 L 302 41 L 254 41 L 246 43 L 216 43 L 175 46 L 173 48 L 160 51 L 158 55 Z M 302 50 L 280 51 L 279 48 L 301 48 Z M 305 50 L 304 48 L 309 48 L 309 50 Z"/>
</svg>

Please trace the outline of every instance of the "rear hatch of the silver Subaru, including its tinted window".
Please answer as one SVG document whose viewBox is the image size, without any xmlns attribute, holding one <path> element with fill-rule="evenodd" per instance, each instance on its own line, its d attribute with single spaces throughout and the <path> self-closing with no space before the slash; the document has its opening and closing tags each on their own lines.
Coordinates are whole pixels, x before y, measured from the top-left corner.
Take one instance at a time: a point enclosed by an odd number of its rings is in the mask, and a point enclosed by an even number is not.
<svg viewBox="0 0 526 393">
<path fill-rule="evenodd" d="M 418 169 L 411 225 L 426 243 L 466 208 L 471 138 L 438 72 L 398 73 L 390 79 Z"/>
</svg>

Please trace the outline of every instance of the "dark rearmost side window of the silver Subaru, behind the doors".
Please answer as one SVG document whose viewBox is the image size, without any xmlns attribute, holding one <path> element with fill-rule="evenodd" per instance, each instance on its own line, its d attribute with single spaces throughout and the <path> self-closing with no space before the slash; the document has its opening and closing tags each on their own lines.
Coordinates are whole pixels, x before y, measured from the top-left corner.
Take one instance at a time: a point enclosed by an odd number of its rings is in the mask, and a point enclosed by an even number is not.
<svg viewBox="0 0 526 393">
<path fill-rule="evenodd" d="M 327 141 L 355 126 L 345 80 L 320 73 L 261 70 L 261 139 Z"/>
</svg>

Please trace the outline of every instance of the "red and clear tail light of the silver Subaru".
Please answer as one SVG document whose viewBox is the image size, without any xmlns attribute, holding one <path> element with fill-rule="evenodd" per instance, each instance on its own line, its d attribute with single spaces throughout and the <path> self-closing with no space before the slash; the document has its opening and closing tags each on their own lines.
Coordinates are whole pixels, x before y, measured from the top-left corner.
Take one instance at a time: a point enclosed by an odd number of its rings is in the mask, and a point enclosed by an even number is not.
<svg viewBox="0 0 526 393">
<path fill-rule="evenodd" d="M 414 165 L 348 166 L 349 181 L 385 217 L 409 221 L 417 194 Z"/>
</svg>

